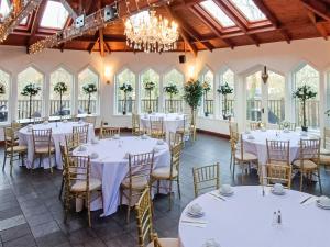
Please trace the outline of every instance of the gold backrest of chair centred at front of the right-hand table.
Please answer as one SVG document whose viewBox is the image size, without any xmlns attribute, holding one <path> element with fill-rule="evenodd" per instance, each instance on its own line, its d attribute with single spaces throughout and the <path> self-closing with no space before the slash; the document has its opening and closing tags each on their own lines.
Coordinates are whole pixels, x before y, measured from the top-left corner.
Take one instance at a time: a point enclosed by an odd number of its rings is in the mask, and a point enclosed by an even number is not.
<svg viewBox="0 0 330 247">
<path fill-rule="evenodd" d="M 290 165 L 290 142 L 289 141 L 268 141 L 266 139 L 267 145 L 267 157 L 268 164 L 282 164 Z"/>
</svg>

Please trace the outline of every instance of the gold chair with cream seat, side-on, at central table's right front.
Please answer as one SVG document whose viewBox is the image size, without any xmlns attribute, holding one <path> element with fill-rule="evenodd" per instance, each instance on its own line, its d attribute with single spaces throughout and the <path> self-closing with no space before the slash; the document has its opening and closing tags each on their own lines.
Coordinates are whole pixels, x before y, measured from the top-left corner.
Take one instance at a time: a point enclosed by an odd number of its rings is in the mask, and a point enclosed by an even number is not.
<svg viewBox="0 0 330 247">
<path fill-rule="evenodd" d="M 160 193 L 161 181 L 166 180 L 169 182 L 168 187 L 165 187 L 166 190 L 169 191 L 169 210 L 172 209 L 172 183 L 176 181 L 177 183 L 177 192 L 179 199 L 182 199 L 180 192 L 180 180 L 179 180 L 179 166 L 180 166 L 180 156 L 184 144 L 183 142 L 170 147 L 170 166 L 160 167 L 152 171 L 151 176 L 151 184 L 157 181 L 157 193 Z"/>
</svg>

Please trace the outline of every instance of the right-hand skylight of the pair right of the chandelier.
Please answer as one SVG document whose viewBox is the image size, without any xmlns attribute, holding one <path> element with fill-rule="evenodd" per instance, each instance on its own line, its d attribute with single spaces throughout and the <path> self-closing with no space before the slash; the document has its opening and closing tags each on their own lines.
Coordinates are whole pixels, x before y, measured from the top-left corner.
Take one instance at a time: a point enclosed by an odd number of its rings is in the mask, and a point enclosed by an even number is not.
<svg viewBox="0 0 330 247">
<path fill-rule="evenodd" d="M 249 21 L 266 20 L 263 12 L 255 5 L 253 0 L 231 0 L 233 4 L 248 18 Z"/>
</svg>

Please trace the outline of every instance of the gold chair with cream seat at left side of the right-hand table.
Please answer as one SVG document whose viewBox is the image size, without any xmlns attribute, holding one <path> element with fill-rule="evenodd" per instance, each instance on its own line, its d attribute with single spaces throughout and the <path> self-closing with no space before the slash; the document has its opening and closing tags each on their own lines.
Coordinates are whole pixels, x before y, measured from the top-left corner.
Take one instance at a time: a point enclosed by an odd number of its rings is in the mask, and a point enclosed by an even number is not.
<svg viewBox="0 0 330 247">
<path fill-rule="evenodd" d="M 233 159 L 233 178 L 235 177 L 235 166 L 241 166 L 242 169 L 242 182 L 243 182 L 243 173 L 244 169 L 248 167 L 251 168 L 251 165 L 255 164 L 258 167 L 257 157 L 254 154 L 244 150 L 244 139 L 243 135 L 241 135 L 240 139 L 232 139 L 231 142 L 231 151 Z"/>
</svg>

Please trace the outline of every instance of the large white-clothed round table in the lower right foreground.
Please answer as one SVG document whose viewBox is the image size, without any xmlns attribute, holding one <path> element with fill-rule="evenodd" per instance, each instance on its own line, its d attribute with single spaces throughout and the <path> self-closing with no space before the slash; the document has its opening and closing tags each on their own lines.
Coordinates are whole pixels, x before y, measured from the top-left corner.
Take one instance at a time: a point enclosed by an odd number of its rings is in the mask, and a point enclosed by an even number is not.
<svg viewBox="0 0 330 247">
<path fill-rule="evenodd" d="M 316 198 L 300 204 L 309 194 L 287 190 L 274 195 L 265 188 L 265 197 L 257 186 L 234 187 L 234 194 L 226 201 L 206 193 L 184 210 L 179 223 L 182 247 L 201 247 L 215 238 L 221 247 L 328 247 L 330 243 L 330 211 L 319 209 Z M 205 227 L 182 221 L 189 205 L 202 206 Z M 280 210 L 282 224 L 273 224 L 274 211 Z"/>
</svg>

